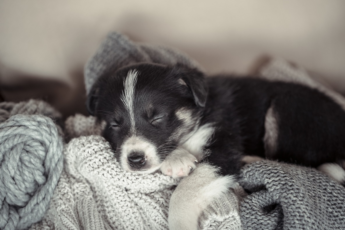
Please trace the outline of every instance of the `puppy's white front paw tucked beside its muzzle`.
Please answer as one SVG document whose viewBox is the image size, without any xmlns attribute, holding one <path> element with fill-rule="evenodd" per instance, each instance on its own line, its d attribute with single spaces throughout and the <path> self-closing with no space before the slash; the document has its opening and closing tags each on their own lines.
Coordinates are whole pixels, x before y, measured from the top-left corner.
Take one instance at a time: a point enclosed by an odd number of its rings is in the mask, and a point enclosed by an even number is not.
<svg viewBox="0 0 345 230">
<path fill-rule="evenodd" d="M 176 149 L 163 161 L 160 170 L 163 174 L 174 178 L 188 176 L 196 168 L 197 159 L 187 150 Z"/>
</svg>

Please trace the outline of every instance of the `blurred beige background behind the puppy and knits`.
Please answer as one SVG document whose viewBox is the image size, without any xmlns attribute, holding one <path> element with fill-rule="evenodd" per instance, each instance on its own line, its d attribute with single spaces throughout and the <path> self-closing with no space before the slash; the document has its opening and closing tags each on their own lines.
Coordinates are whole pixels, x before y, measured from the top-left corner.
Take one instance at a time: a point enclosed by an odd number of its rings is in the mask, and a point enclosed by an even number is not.
<svg viewBox="0 0 345 230">
<path fill-rule="evenodd" d="M 345 1 L 0 1 L 0 94 L 85 113 L 83 65 L 109 31 L 185 51 L 208 73 L 248 73 L 262 54 L 345 92 Z"/>
</svg>

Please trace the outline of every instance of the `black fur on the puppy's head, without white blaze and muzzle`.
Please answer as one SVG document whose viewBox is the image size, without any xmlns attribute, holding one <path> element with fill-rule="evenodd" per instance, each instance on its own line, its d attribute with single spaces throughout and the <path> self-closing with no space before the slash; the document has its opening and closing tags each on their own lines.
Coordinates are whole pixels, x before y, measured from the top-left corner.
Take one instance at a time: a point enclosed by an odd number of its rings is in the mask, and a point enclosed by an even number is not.
<svg viewBox="0 0 345 230">
<path fill-rule="evenodd" d="M 180 65 L 168 68 L 145 63 L 122 68 L 100 77 L 93 85 L 87 100 L 89 113 L 107 122 L 104 136 L 117 150 L 124 138 L 131 135 L 128 111 L 120 98 L 127 73 L 133 69 L 138 70 L 140 75 L 134 102 L 137 133 L 156 146 L 167 142 L 177 143 L 178 138 L 170 139 L 171 133 L 181 125 L 175 111 L 181 106 L 195 107 L 196 111 L 205 106 L 207 87 L 204 75 L 198 71 Z M 181 85 L 179 79 L 183 79 L 187 87 Z M 161 118 L 154 121 L 155 117 Z M 112 127 L 114 123 L 118 126 Z M 161 160 L 165 156 L 161 155 Z"/>
</svg>

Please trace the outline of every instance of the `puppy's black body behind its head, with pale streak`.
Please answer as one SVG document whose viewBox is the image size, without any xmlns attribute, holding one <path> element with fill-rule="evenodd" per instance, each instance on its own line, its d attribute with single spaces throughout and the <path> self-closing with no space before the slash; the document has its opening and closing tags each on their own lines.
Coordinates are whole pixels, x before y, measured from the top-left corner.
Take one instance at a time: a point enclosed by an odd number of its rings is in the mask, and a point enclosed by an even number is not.
<svg viewBox="0 0 345 230">
<path fill-rule="evenodd" d="M 344 159 L 345 112 L 319 91 L 232 76 L 207 83 L 201 124 L 216 127 L 207 159 L 223 174 L 238 172 L 243 153 L 312 167 Z"/>
</svg>

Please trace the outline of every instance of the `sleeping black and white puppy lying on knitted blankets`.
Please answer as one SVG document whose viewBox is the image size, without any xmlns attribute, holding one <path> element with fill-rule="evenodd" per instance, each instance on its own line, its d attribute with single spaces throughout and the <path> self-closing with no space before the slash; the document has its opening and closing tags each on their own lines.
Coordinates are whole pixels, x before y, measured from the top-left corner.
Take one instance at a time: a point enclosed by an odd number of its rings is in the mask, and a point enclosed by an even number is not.
<svg viewBox="0 0 345 230">
<path fill-rule="evenodd" d="M 207 160 L 236 175 L 244 155 L 312 167 L 345 159 L 343 109 L 294 83 L 139 63 L 101 76 L 87 108 L 127 171 L 182 177 Z"/>
</svg>

